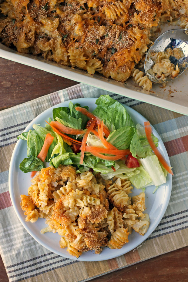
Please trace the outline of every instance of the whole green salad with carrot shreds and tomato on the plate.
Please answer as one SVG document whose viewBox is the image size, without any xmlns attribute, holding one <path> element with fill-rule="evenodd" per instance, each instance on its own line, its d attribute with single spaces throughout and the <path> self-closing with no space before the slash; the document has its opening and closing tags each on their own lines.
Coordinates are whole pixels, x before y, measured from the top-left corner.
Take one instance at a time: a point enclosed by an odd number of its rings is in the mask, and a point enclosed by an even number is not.
<svg viewBox="0 0 188 282">
<path fill-rule="evenodd" d="M 34 124 L 33 130 L 20 134 L 17 138 L 27 141 L 20 169 L 39 171 L 47 162 L 55 168 L 76 166 L 77 173 L 92 170 L 106 180 L 129 179 L 137 189 L 166 183 L 171 170 L 159 157 L 156 136 L 146 136 L 148 125 L 134 124 L 126 109 L 109 95 L 101 95 L 96 105 L 90 113 L 88 106 L 69 102 L 69 107 L 53 109 L 53 120 L 49 117 L 45 127 Z M 51 141 L 46 141 L 47 136 Z"/>
</svg>

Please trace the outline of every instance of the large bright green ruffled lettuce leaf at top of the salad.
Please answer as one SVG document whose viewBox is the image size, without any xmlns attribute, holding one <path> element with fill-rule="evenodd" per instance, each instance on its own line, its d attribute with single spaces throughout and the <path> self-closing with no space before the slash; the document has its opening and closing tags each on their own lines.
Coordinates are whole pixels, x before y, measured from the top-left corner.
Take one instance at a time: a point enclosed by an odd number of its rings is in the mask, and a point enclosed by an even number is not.
<svg viewBox="0 0 188 282">
<path fill-rule="evenodd" d="M 134 126 L 126 109 L 109 95 L 101 95 L 96 100 L 96 105 L 93 114 L 103 120 L 110 131 L 123 126 Z"/>
</svg>

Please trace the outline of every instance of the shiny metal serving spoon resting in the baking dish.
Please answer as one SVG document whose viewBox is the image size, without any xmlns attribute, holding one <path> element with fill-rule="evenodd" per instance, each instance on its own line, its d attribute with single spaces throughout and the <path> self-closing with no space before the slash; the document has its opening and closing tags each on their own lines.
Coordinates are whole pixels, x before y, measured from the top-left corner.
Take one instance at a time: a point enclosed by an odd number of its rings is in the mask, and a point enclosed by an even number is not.
<svg viewBox="0 0 188 282">
<path fill-rule="evenodd" d="M 162 51 L 166 51 L 166 49 L 168 48 L 171 48 L 171 49 L 181 48 L 183 51 L 184 57 L 178 60 L 175 57 L 170 56 L 169 60 L 175 66 L 178 65 L 180 69 L 180 73 L 178 76 L 180 76 L 180 74 L 182 74 L 182 72 L 184 72 L 184 70 L 188 67 L 188 35 L 185 33 L 186 31 L 188 31 L 188 29 L 168 30 L 164 32 L 163 34 L 161 34 L 156 39 L 156 41 L 153 43 L 153 45 L 149 48 L 146 54 L 145 62 L 144 62 L 144 69 L 145 69 L 146 75 L 149 77 L 151 81 L 156 82 L 156 83 L 161 82 L 154 75 L 148 72 L 148 70 L 151 69 L 152 66 L 154 65 L 153 60 L 150 58 L 152 51 L 162 52 Z M 165 82 L 169 82 L 173 79 L 174 78 L 167 76 Z"/>
</svg>

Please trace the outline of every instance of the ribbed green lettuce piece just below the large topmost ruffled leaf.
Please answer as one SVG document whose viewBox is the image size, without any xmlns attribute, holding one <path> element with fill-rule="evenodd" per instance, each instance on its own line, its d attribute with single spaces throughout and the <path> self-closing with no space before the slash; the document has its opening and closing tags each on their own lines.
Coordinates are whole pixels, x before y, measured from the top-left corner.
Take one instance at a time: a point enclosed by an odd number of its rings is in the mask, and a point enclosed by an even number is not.
<svg viewBox="0 0 188 282">
<path fill-rule="evenodd" d="M 107 141 L 119 150 L 127 149 L 129 148 L 134 133 L 134 126 L 123 126 L 112 131 L 108 136 Z"/>
</svg>

